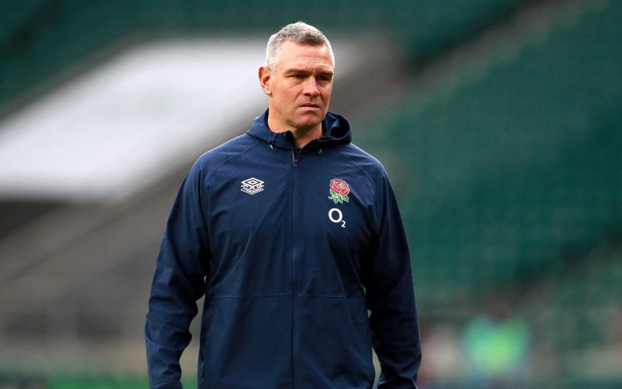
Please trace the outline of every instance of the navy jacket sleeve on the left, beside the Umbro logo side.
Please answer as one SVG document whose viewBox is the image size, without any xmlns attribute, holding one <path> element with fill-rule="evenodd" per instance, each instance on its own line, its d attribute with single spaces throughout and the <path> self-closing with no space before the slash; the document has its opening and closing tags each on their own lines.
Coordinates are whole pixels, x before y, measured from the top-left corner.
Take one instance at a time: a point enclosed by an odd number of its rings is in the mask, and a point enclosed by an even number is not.
<svg viewBox="0 0 622 389">
<path fill-rule="evenodd" d="M 196 162 L 183 179 L 170 210 L 149 295 L 145 323 L 151 389 L 181 389 L 179 359 L 188 328 L 205 293 L 210 249 L 203 217 L 202 172 Z"/>
</svg>

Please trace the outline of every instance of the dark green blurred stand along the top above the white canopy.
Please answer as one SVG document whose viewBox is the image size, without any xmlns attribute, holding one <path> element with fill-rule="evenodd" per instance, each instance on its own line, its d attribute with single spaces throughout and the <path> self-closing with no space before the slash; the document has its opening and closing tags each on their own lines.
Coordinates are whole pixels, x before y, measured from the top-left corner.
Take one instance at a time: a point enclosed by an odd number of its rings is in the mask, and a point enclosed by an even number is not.
<svg viewBox="0 0 622 389">
<path fill-rule="evenodd" d="M 270 0 L 233 2 L 107 2 L 38 0 L 3 2 L 0 12 L 0 114 L 75 75 L 106 50 L 170 34 L 269 34 L 292 20 L 304 20 L 333 34 L 383 33 L 411 45 L 412 60 L 477 34 L 527 1 L 410 2 Z M 106 50 L 103 50 L 106 48 Z M 53 81 L 50 81 L 53 80 Z M 11 103 L 11 104 L 9 104 Z"/>
</svg>

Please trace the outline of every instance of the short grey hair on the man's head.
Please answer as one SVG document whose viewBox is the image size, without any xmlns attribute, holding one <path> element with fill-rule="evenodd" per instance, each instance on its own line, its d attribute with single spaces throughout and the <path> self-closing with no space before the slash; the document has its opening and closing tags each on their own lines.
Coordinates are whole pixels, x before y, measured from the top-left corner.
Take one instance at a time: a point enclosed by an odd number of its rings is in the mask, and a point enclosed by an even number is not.
<svg viewBox="0 0 622 389">
<path fill-rule="evenodd" d="M 330 47 L 330 42 L 328 42 L 328 39 L 322 34 L 322 31 L 301 21 L 286 25 L 276 34 L 272 34 L 268 40 L 268 45 L 266 47 L 266 64 L 264 66 L 270 71 L 274 72 L 276 70 L 276 64 L 279 63 L 279 56 L 281 55 L 281 45 L 285 40 L 290 40 L 299 45 L 325 45 L 328 47 L 330 58 L 333 60 L 333 66 L 335 66 L 333 48 Z"/>
</svg>

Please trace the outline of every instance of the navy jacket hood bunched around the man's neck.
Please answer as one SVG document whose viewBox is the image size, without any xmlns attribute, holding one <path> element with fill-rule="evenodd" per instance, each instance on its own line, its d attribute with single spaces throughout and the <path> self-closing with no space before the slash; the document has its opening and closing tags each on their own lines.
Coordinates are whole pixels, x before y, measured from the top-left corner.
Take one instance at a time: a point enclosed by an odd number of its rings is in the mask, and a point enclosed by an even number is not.
<svg viewBox="0 0 622 389">
<path fill-rule="evenodd" d="M 246 131 L 246 133 L 256 137 L 257 139 L 263 140 L 267 144 L 272 144 L 288 150 L 291 149 L 291 142 L 294 140 L 294 134 L 292 134 L 290 130 L 285 132 L 272 132 L 269 129 L 267 108 L 261 116 L 258 116 L 253 120 L 253 128 Z M 322 137 L 309 142 L 309 144 L 305 145 L 305 149 L 350 143 L 351 139 L 351 127 L 348 119 L 340 114 L 335 114 L 329 111 L 322 120 Z"/>
</svg>

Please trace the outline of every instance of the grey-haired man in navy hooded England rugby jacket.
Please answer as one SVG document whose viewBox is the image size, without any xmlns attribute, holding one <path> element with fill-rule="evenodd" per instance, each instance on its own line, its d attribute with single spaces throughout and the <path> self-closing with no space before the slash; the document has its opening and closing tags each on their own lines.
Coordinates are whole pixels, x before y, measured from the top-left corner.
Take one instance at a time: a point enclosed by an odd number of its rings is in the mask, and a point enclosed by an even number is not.
<svg viewBox="0 0 622 389">
<path fill-rule="evenodd" d="M 314 27 L 272 35 L 259 68 L 268 109 L 183 180 L 147 311 L 152 389 L 181 388 L 204 294 L 199 388 L 368 389 L 372 346 L 378 388 L 417 387 L 406 234 L 383 166 L 328 112 L 333 68 Z"/>
</svg>

